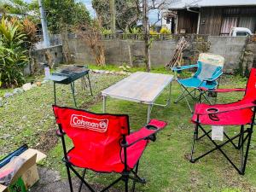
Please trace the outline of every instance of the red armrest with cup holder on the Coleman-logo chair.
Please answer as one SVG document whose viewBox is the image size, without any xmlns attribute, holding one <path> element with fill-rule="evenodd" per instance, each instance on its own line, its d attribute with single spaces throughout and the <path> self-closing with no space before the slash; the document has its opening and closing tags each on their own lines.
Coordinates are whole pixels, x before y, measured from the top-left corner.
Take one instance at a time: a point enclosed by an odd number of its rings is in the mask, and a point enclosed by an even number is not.
<svg viewBox="0 0 256 192">
<path fill-rule="evenodd" d="M 130 147 L 131 145 L 141 141 L 141 140 L 155 140 L 155 134 L 166 127 L 165 121 L 160 121 L 158 119 L 151 119 L 148 125 L 143 126 L 139 131 L 131 133 L 126 136 L 126 143 L 121 143 L 122 147 Z"/>
</svg>

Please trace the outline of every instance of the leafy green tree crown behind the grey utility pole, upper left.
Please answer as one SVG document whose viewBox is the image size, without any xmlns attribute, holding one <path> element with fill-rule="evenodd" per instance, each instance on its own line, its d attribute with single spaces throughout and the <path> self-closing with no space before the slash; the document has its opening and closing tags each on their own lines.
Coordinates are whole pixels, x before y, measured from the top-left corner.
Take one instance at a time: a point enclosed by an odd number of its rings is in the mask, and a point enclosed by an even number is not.
<svg viewBox="0 0 256 192">
<path fill-rule="evenodd" d="M 74 0 L 44 0 L 46 19 L 51 33 L 61 33 L 64 29 L 85 21 L 90 21 L 90 13 L 84 3 Z M 3 3 L 2 10 L 9 14 L 28 16 L 35 23 L 40 22 L 38 0 L 27 3 L 24 0 L 9 0 Z"/>
</svg>

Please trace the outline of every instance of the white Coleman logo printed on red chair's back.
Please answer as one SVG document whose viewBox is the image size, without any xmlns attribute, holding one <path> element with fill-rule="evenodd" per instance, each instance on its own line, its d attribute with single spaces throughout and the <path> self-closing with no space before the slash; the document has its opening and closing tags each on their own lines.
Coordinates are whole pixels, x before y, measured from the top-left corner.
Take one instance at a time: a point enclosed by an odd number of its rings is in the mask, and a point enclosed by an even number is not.
<svg viewBox="0 0 256 192">
<path fill-rule="evenodd" d="M 94 119 L 83 115 L 73 114 L 71 116 L 70 125 L 81 129 L 106 132 L 108 129 L 108 119 Z"/>
</svg>

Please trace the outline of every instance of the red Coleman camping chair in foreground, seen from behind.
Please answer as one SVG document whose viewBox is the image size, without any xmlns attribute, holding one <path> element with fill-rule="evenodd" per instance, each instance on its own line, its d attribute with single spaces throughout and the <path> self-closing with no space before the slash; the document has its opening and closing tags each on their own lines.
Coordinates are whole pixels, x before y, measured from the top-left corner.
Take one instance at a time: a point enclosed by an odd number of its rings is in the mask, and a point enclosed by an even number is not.
<svg viewBox="0 0 256 192">
<path fill-rule="evenodd" d="M 110 189 L 120 180 L 125 181 L 125 192 L 128 192 L 128 181 L 145 183 L 138 177 L 139 160 L 150 140 L 155 141 L 155 134 L 166 126 L 166 122 L 151 119 L 148 125 L 130 134 L 129 117 L 125 114 L 90 113 L 74 108 L 53 106 L 56 123 L 59 125 L 57 135 L 61 137 L 64 158 L 67 166 L 67 177 L 70 190 L 73 185 L 70 169 L 90 191 L 89 183 L 84 180 L 86 169 L 95 172 L 117 172 L 121 176 L 101 191 Z M 73 148 L 67 151 L 64 135 L 73 141 Z M 80 175 L 74 167 L 84 168 Z M 131 173 L 133 177 L 131 177 Z"/>
</svg>

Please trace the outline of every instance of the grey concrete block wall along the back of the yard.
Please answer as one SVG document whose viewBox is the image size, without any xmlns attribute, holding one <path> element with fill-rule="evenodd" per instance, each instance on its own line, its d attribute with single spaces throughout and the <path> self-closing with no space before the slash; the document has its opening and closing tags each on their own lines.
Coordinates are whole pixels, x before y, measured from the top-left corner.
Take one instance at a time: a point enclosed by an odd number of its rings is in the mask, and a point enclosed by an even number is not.
<svg viewBox="0 0 256 192">
<path fill-rule="evenodd" d="M 192 39 L 192 40 L 191 40 Z M 194 38 L 188 39 L 191 43 Z M 246 37 L 204 37 L 202 43 L 209 43 L 210 47 L 207 52 L 223 55 L 225 58 L 224 73 L 234 73 L 239 67 L 239 61 L 242 51 L 245 49 L 247 42 Z M 130 56 L 133 65 L 143 65 L 144 61 L 144 42 L 142 40 L 102 40 L 105 47 L 106 62 L 109 64 L 122 65 L 130 64 Z M 171 60 L 171 56 L 177 44 L 177 38 L 171 40 L 153 41 L 150 49 L 150 59 L 152 66 L 164 67 Z M 198 42 L 196 42 L 198 44 Z M 67 41 L 68 48 L 74 55 L 77 63 L 95 63 L 94 55 L 81 39 L 70 38 Z M 131 55 L 129 55 L 129 46 Z M 193 46 L 192 46 L 193 47 Z M 187 50 L 195 52 L 195 50 Z M 254 53 L 255 54 L 255 53 Z M 254 55 L 255 58 L 255 55 Z"/>
</svg>

